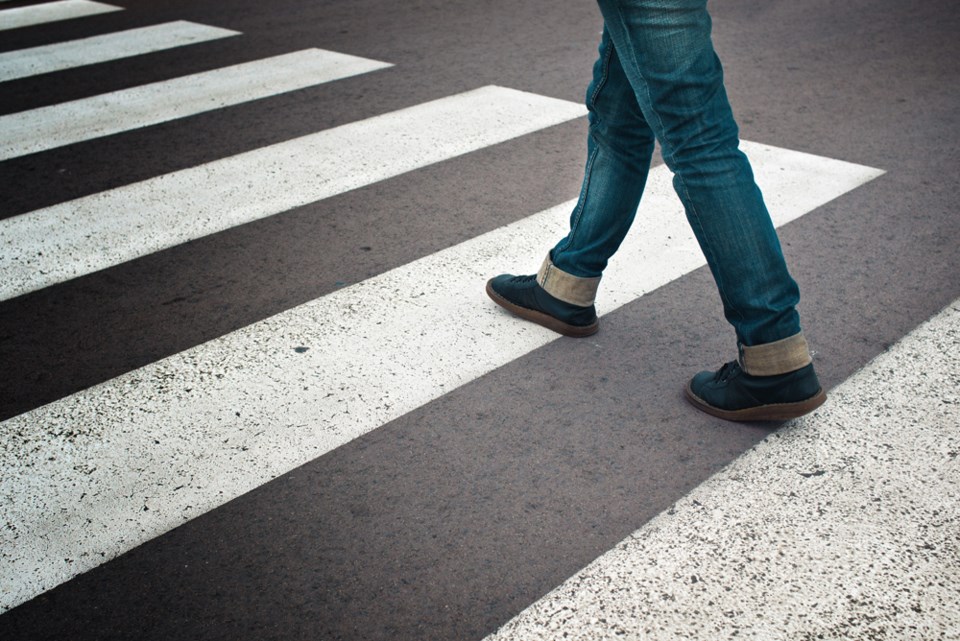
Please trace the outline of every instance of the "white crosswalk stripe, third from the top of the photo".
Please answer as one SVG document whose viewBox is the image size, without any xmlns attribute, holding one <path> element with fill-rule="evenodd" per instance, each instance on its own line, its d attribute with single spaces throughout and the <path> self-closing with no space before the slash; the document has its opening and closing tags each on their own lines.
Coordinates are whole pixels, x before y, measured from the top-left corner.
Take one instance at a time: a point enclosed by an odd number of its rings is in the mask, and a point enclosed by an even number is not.
<svg viewBox="0 0 960 641">
<path fill-rule="evenodd" d="M 308 49 L 0 116 L 0 160 L 147 127 L 391 65 Z"/>
</svg>

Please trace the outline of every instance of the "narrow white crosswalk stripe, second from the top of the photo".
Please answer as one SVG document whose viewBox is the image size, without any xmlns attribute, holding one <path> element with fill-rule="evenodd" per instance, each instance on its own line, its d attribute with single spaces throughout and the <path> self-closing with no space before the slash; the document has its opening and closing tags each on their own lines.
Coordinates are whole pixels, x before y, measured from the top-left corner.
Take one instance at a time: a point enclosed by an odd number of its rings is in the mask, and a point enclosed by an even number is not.
<svg viewBox="0 0 960 641">
<path fill-rule="evenodd" d="M 240 35 L 177 21 L 0 53 L 0 82 Z"/>
</svg>

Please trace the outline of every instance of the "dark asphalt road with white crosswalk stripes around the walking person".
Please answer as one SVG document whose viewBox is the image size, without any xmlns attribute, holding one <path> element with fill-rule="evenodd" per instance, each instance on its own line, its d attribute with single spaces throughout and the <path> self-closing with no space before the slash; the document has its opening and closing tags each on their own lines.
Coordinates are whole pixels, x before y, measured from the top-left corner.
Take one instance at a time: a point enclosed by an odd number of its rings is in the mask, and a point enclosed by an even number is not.
<svg viewBox="0 0 960 641">
<path fill-rule="evenodd" d="M 485 297 L 591 3 L 0 1 L 0 638 L 960 639 L 960 11 L 711 12 L 783 425 L 682 398 L 735 345 L 659 160 L 597 335 Z"/>
</svg>

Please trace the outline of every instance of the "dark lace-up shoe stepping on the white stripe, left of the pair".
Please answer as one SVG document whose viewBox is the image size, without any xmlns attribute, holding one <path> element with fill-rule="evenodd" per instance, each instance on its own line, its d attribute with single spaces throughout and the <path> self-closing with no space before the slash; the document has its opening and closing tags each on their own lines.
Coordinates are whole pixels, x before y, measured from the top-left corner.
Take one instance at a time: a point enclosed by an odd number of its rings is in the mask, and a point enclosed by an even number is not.
<svg viewBox="0 0 960 641">
<path fill-rule="evenodd" d="M 564 336 L 583 337 L 600 329 L 593 305 L 580 307 L 554 298 L 537 283 L 535 275 L 501 274 L 487 281 L 487 295 L 497 305 L 520 318 L 533 321 Z"/>
</svg>

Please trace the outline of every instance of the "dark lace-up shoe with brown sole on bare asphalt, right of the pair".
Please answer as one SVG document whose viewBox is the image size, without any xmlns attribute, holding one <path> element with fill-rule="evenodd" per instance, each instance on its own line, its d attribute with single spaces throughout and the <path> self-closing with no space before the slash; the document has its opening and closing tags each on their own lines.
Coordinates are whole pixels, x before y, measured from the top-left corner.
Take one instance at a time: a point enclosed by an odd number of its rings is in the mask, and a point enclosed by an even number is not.
<svg viewBox="0 0 960 641">
<path fill-rule="evenodd" d="M 813 363 L 787 374 L 751 376 L 732 361 L 694 376 L 686 392 L 694 407 L 728 421 L 785 421 L 827 400 Z"/>
</svg>

